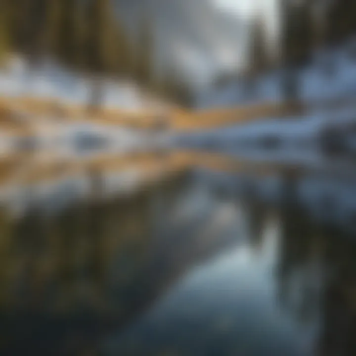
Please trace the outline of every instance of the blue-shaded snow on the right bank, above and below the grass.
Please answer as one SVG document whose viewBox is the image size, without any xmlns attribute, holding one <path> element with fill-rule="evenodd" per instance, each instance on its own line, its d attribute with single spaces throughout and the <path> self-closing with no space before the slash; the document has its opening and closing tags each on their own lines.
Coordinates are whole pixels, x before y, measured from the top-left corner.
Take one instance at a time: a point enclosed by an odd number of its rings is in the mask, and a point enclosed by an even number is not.
<svg viewBox="0 0 356 356">
<path fill-rule="evenodd" d="M 321 135 L 335 130 L 348 153 L 356 154 L 356 40 L 339 48 L 314 53 L 311 64 L 299 71 L 299 98 L 308 108 L 300 117 L 264 117 L 223 129 L 177 137 L 178 146 L 218 151 L 248 160 L 288 164 L 324 164 Z M 282 70 L 258 78 L 247 93 L 243 80 L 205 92 L 198 107 L 233 107 L 282 102 Z M 327 104 L 334 105 L 327 105 Z M 334 106 L 334 107 L 332 107 Z"/>
</svg>

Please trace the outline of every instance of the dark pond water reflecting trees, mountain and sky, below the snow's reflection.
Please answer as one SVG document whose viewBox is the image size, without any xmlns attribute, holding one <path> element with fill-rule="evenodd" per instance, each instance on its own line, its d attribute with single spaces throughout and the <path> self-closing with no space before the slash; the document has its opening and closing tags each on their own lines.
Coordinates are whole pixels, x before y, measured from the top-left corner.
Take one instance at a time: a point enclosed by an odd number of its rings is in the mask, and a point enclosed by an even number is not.
<svg viewBox="0 0 356 356">
<path fill-rule="evenodd" d="M 271 175 L 194 170 L 98 198 L 92 173 L 63 209 L 2 206 L 4 353 L 355 355 L 356 235 L 339 217 L 356 184 Z"/>
</svg>

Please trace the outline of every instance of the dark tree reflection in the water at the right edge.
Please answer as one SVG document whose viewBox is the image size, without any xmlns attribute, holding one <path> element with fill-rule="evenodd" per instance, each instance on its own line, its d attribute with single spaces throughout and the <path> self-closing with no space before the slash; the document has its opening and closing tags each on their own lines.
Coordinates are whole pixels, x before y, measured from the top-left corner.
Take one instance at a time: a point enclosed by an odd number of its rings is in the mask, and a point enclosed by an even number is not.
<svg viewBox="0 0 356 356">
<path fill-rule="evenodd" d="M 315 222 L 298 201 L 297 179 L 284 177 L 278 279 L 283 304 L 303 322 L 317 320 L 315 355 L 356 355 L 356 234 L 330 220 Z M 329 201 L 329 199 L 328 199 Z"/>
</svg>

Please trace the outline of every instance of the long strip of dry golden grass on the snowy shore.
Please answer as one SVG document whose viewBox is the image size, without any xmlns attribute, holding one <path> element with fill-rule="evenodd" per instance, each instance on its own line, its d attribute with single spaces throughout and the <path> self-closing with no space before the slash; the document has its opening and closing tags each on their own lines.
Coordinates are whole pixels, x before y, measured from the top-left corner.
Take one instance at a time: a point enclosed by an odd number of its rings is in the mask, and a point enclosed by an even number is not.
<svg viewBox="0 0 356 356">
<path fill-rule="evenodd" d="M 135 129 L 171 128 L 178 131 L 195 131 L 242 123 L 260 118 L 301 113 L 301 107 L 289 103 L 266 102 L 231 108 L 188 111 L 171 107 L 164 115 L 151 112 L 132 112 L 117 108 L 89 111 L 87 106 L 62 103 L 55 99 L 0 98 L 0 130 L 19 133 L 31 131 L 31 123 L 38 118 L 62 122 L 91 122 L 100 125 L 124 126 Z M 27 123 L 19 123 L 16 115 L 24 114 Z M 26 131 L 27 130 L 27 131 Z"/>
</svg>

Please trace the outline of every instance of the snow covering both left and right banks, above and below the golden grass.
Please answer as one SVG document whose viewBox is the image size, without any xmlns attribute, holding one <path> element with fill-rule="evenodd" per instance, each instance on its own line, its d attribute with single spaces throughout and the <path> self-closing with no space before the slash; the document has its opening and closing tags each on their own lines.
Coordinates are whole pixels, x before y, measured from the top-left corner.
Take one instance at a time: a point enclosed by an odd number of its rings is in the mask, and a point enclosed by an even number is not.
<svg viewBox="0 0 356 356">
<path fill-rule="evenodd" d="M 316 52 L 312 63 L 300 71 L 300 98 L 310 106 L 307 115 L 295 118 L 263 118 L 258 121 L 231 126 L 225 129 L 176 135 L 149 134 L 124 128 L 104 128 L 100 125 L 51 124 L 47 128 L 39 121 L 38 144 L 42 149 L 56 147 L 61 154 L 82 156 L 108 152 L 128 152 L 148 147 L 169 146 L 174 138 L 178 147 L 219 150 L 239 154 L 248 159 L 268 159 L 282 162 L 315 162 L 320 160 L 320 133 L 327 127 L 341 128 L 356 123 L 356 107 L 323 108 L 320 103 L 335 99 L 350 99 L 356 92 L 356 60 L 351 55 L 352 42 L 333 51 Z M 332 63 L 332 71 L 328 71 Z M 237 106 L 246 103 L 282 101 L 280 81 L 282 71 L 275 70 L 256 81 L 253 95 L 246 94 L 245 85 L 236 80 L 223 88 L 205 92 L 198 98 L 197 106 Z M 67 102 L 88 102 L 90 83 L 87 79 L 63 70 L 51 61 L 44 62 L 36 70 L 30 70 L 25 62 L 12 60 L 6 71 L 0 72 L 0 95 L 51 97 Z M 104 105 L 136 110 L 152 104 L 133 83 L 104 84 Z M 345 126 L 346 127 L 346 126 Z M 267 143 L 266 143 L 267 140 Z M 356 133 L 347 137 L 349 147 L 356 150 Z M 1 139 L 0 152 L 18 143 Z M 264 146 L 269 146 L 264 147 Z M 271 147 L 272 146 L 272 147 Z M 308 159 L 306 157 L 309 157 Z"/>
</svg>

